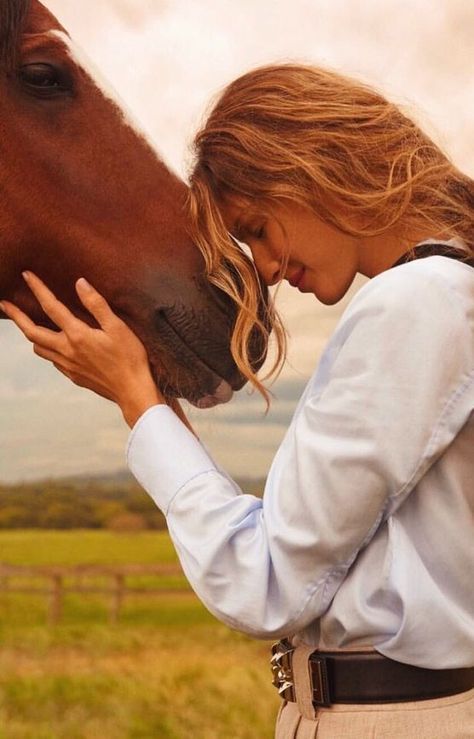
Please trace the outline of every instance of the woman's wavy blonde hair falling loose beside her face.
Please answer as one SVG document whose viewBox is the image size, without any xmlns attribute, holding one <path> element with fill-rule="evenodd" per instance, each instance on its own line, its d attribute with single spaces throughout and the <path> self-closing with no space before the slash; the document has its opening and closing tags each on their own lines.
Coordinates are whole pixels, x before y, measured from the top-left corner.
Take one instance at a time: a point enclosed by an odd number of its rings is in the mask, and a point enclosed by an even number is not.
<svg viewBox="0 0 474 739">
<path fill-rule="evenodd" d="M 313 210 L 347 234 L 397 229 L 460 237 L 474 252 L 474 183 L 393 103 L 333 71 L 297 64 L 255 69 L 232 82 L 194 141 L 188 199 L 193 238 L 210 281 L 238 307 L 231 351 L 268 400 L 249 358 L 255 333 L 265 350 L 273 329 L 271 376 L 286 356 L 282 322 L 252 263 L 229 235 L 219 206 L 282 201 Z M 264 351 L 265 351 L 264 350 Z"/>
</svg>

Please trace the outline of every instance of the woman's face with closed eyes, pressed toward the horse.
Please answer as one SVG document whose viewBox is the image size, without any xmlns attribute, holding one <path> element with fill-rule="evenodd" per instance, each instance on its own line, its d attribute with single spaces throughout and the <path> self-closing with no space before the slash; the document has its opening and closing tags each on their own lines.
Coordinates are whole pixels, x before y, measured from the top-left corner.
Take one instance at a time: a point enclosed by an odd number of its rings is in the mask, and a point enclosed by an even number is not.
<svg viewBox="0 0 474 739">
<path fill-rule="evenodd" d="M 227 199 L 220 212 L 230 233 L 250 247 L 267 285 L 286 279 L 326 305 L 349 289 L 358 271 L 357 240 L 308 208 L 288 203 L 268 211 L 258 202 Z"/>
</svg>

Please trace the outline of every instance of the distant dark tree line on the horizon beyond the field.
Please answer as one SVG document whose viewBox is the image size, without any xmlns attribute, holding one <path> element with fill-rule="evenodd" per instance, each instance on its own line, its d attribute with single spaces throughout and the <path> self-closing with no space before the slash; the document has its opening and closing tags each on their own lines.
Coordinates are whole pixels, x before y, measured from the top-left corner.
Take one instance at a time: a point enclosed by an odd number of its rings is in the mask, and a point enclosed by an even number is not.
<svg viewBox="0 0 474 739">
<path fill-rule="evenodd" d="M 150 496 L 122 477 L 0 485 L 0 529 L 165 529 Z M 242 481 L 241 487 L 261 495 L 263 482 Z"/>
</svg>

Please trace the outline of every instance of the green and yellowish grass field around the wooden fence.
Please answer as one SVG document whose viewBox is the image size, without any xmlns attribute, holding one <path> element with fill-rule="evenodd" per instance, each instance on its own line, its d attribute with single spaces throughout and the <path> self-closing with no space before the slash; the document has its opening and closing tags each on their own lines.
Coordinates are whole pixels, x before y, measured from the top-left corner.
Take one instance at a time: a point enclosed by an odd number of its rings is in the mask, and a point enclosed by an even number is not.
<svg viewBox="0 0 474 739">
<path fill-rule="evenodd" d="M 173 562 L 165 533 L 6 531 L 10 564 Z M 192 594 L 0 598 L 0 739 L 270 739 L 278 710 L 269 645 L 232 632 Z"/>
</svg>

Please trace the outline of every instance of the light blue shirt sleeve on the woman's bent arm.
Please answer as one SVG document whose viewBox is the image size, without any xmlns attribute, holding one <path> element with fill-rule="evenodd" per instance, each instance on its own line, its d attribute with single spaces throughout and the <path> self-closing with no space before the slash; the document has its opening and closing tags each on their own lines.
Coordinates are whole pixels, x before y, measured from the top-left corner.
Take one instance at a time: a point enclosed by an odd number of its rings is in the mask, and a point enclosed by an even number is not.
<svg viewBox="0 0 474 739">
<path fill-rule="evenodd" d="M 430 275 L 381 278 L 344 314 L 263 500 L 242 493 L 169 408 L 150 409 L 131 433 L 131 471 L 165 513 L 196 593 L 231 627 L 273 638 L 320 617 L 467 420 L 473 342 L 460 301 Z"/>
</svg>

